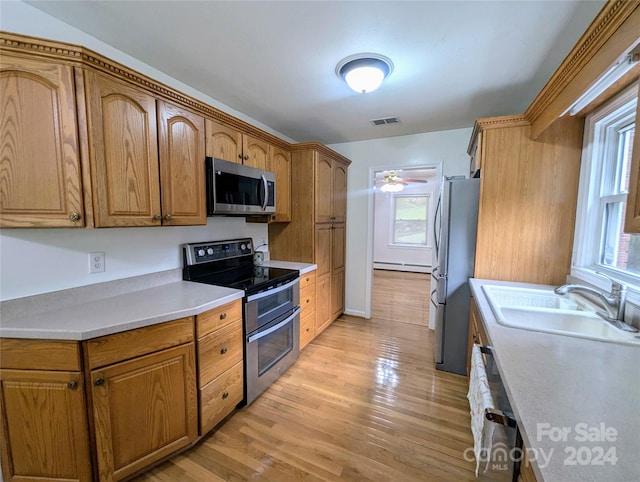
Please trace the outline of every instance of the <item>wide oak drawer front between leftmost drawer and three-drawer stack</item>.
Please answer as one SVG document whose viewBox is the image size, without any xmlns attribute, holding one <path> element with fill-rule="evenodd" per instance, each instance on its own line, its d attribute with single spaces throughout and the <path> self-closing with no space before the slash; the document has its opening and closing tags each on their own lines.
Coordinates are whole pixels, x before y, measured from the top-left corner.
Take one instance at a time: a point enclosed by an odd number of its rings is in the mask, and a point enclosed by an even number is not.
<svg viewBox="0 0 640 482">
<path fill-rule="evenodd" d="M 123 331 L 86 342 L 91 369 L 193 341 L 193 317 Z"/>
</svg>

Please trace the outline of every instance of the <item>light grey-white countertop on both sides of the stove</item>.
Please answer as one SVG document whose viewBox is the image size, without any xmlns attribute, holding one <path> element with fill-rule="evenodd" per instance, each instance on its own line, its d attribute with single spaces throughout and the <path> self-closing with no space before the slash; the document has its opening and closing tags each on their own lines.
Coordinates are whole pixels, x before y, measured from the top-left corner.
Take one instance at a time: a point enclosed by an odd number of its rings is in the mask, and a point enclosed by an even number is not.
<svg viewBox="0 0 640 482">
<path fill-rule="evenodd" d="M 315 264 L 270 260 L 297 269 Z M 244 292 L 182 281 L 182 270 L 71 288 L 0 303 L 0 337 L 88 340 L 193 316 L 242 298 Z"/>
</svg>

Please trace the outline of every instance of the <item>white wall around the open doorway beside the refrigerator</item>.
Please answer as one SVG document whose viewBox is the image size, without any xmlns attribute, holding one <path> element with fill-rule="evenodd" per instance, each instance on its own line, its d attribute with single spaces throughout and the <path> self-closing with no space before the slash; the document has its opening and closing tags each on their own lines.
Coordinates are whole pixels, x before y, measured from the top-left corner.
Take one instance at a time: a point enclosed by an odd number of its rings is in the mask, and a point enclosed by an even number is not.
<svg viewBox="0 0 640 482">
<path fill-rule="evenodd" d="M 370 169 L 442 163 L 445 176 L 468 175 L 466 151 L 470 138 L 471 128 L 466 128 L 329 146 L 352 161 L 347 185 L 347 313 L 365 316 L 369 312 L 371 266 L 368 260 L 373 258 L 372 246 L 367 241 L 373 212 Z"/>
</svg>

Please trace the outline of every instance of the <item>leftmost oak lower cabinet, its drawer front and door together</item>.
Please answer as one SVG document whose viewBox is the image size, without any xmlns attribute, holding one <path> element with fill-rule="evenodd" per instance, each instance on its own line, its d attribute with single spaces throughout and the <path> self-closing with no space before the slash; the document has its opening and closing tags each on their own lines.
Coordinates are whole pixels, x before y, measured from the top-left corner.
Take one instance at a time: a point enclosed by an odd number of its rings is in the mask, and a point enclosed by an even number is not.
<svg viewBox="0 0 640 482">
<path fill-rule="evenodd" d="M 10 481 L 90 481 L 80 346 L 0 339 L 0 447 Z"/>
</svg>

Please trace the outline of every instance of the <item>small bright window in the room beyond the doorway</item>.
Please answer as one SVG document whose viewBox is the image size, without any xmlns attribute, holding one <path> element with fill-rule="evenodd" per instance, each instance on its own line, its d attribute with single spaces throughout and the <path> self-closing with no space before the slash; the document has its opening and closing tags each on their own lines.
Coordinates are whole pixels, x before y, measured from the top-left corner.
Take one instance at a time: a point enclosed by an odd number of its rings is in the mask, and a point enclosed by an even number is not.
<svg viewBox="0 0 640 482">
<path fill-rule="evenodd" d="M 391 215 L 391 244 L 427 246 L 429 194 L 395 194 Z"/>
</svg>

